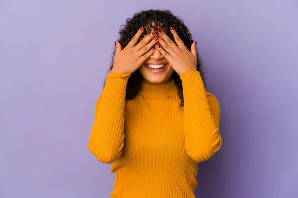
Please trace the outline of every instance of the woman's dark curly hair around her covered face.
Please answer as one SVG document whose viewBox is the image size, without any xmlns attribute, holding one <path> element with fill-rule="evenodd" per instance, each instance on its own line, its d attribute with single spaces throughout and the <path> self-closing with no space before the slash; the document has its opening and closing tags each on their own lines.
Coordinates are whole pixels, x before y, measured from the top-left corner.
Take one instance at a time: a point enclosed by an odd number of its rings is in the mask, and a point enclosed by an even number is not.
<svg viewBox="0 0 298 198">
<path fill-rule="evenodd" d="M 152 22 L 153 21 L 153 22 Z M 122 28 L 124 26 L 124 28 Z M 183 21 L 179 19 L 179 17 L 174 16 L 171 11 L 169 10 L 146 10 L 141 11 L 139 13 L 135 13 L 132 18 L 128 18 L 126 20 L 126 25 L 121 25 L 121 30 L 119 31 L 120 38 L 119 43 L 122 46 L 122 49 L 131 41 L 140 27 L 144 27 L 144 32 L 141 38 L 144 38 L 148 35 L 153 29 L 157 31 L 158 28 L 161 28 L 173 41 L 173 35 L 170 33 L 170 26 L 174 27 L 177 34 L 185 44 L 185 46 L 190 50 L 191 44 L 194 42 L 192 40 L 192 35 L 189 32 L 189 29 L 186 25 L 184 25 Z M 140 38 L 140 40 L 141 40 Z M 139 40 L 139 42 L 140 42 Z M 109 68 L 109 72 L 113 68 L 113 59 L 115 57 L 115 51 L 112 54 L 112 62 Z M 202 77 L 204 87 L 206 88 L 206 80 L 202 68 L 202 60 L 198 55 L 197 51 L 197 70 L 200 72 Z M 180 99 L 179 107 L 184 106 L 184 99 L 183 99 L 183 89 L 182 89 L 182 81 L 180 76 L 174 71 L 171 75 L 174 79 L 175 84 L 177 85 L 177 91 Z M 142 82 L 142 74 L 139 70 L 133 72 L 128 80 L 127 87 L 126 87 L 126 99 L 134 99 L 136 95 L 139 93 L 139 90 L 142 89 L 141 82 Z M 106 82 L 106 80 L 105 80 Z M 104 85 L 105 85 L 104 82 Z"/>
</svg>

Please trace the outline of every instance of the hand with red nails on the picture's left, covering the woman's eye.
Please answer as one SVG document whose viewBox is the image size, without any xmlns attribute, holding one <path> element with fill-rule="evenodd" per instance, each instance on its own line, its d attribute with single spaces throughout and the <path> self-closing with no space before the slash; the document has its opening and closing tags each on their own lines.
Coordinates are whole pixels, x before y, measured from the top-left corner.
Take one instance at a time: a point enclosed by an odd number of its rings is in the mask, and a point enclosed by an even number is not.
<svg viewBox="0 0 298 198">
<path fill-rule="evenodd" d="M 116 51 L 111 73 L 133 73 L 154 53 L 156 49 L 151 47 L 158 42 L 159 38 L 156 31 L 152 31 L 137 44 L 143 30 L 139 29 L 123 50 L 121 44 L 115 41 Z"/>
</svg>

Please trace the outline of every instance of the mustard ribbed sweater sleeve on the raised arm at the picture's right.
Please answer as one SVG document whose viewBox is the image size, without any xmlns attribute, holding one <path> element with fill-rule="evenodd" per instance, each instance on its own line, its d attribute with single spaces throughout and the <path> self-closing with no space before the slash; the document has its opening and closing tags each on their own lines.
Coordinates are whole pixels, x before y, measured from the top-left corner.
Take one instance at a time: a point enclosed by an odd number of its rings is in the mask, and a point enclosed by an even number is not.
<svg viewBox="0 0 298 198">
<path fill-rule="evenodd" d="M 211 158 L 222 144 L 220 106 L 208 93 L 199 71 L 180 75 L 184 99 L 184 133 L 187 154 L 196 162 Z"/>
</svg>

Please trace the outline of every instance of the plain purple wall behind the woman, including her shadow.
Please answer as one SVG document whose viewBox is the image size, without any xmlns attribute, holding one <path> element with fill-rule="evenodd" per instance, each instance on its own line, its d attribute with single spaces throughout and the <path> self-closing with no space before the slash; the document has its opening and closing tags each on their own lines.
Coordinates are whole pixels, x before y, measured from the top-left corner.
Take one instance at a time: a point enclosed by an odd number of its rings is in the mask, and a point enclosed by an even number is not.
<svg viewBox="0 0 298 198">
<path fill-rule="evenodd" d="M 111 164 L 88 151 L 95 102 L 120 25 L 149 8 L 185 21 L 221 106 L 196 196 L 298 198 L 297 0 L 1 0 L 0 198 L 110 196 Z"/>
</svg>

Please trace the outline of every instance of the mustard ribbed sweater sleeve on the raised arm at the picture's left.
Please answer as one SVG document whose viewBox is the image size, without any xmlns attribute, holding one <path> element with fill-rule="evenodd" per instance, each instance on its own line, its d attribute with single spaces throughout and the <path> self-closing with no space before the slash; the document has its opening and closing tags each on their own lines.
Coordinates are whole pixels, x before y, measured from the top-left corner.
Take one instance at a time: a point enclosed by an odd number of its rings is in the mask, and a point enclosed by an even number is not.
<svg viewBox="0 0 298 198">
<path fill-rule="evenodd" d="M 130 76 L 130 73 L 108 73 L 96 102 L 88 148 L 102 163 L 111 164 L 122 154 L 125 95 Z"/>
</svg>

